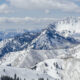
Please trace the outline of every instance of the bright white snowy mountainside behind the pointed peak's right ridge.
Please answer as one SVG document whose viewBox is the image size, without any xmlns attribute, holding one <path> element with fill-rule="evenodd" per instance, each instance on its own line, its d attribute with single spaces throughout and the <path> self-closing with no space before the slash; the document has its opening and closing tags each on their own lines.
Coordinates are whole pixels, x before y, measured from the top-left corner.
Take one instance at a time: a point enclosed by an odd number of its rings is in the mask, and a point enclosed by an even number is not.
<svg viewBox="0 0 80 80">
<path fill-rule="evenodd" d="M 80 17 L 68 17 L 55 21 L 56 31 L 64 37 L 73 37 L 80 40 Z"/>
</svg>

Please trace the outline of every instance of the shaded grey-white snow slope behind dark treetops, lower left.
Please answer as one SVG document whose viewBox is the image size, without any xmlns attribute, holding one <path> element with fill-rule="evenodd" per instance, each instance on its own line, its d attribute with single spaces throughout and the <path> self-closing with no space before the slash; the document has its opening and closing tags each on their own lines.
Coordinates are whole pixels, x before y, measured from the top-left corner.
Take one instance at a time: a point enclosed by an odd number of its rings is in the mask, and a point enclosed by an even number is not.
<svg viewBox="0 0 80 80">
<path fill-rule="evenodd" d="M 54 80 L 47 74 L 32 71 L 30 69 L 0 66 L 0 77 L 3 75 L 14 77 L 15 74 L 17 77 L 21 78 L 21 80 L 39 80 L 39 78 L 43 78 L 44 80 Z"/>
</svg>

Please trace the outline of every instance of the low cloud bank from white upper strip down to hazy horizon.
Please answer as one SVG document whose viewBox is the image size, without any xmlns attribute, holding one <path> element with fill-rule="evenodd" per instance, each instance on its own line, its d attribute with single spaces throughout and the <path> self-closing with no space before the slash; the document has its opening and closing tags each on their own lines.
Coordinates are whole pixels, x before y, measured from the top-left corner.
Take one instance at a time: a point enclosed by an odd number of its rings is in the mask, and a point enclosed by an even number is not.
<svg viewBox="0 0 80 80">
<path fill-rule="evenodd" d="M 2 29 L 41 29 L 52 23 L 54 18 L 32 18 L 32 17 L 0 17 L 0 28 Z"/>
</svg>

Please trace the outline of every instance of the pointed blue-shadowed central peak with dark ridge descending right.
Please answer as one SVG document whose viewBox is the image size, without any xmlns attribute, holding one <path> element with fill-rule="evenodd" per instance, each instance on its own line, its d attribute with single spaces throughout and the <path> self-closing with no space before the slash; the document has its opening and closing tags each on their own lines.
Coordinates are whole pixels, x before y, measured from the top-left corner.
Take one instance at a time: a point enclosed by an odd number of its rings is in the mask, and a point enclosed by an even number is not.
<svg viewBox="0 0 80 80">
<path fill-rule="evenodd" d="M 53 50 L 70 48 L 79 44 L 77 40 L 72 37 L 64 37 L 56 31 L 56 25 L 50 24 L 44 29 L 41 34 L 32 41 L 31 49 L 37 50 Z"/>
</svg>

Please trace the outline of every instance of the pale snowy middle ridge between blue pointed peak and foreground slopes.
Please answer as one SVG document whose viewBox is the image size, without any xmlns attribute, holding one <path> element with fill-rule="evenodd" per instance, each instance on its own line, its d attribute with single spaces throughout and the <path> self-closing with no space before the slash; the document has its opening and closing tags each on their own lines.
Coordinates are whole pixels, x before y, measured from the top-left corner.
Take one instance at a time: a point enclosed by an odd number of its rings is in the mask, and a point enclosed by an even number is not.
<svg viewBox="0 0 80 80">
<path fill-rule="evenodd" d="M 0 65 L 32 68 L 41 61 L 54 58 L 80 58 L 80 45 L 69 49 L 23 50 L 6 54 Z"/>
</svg>

